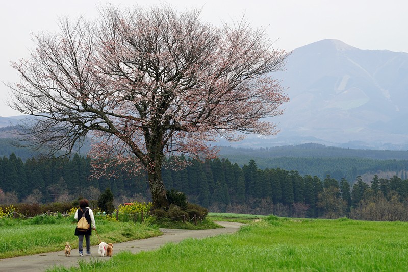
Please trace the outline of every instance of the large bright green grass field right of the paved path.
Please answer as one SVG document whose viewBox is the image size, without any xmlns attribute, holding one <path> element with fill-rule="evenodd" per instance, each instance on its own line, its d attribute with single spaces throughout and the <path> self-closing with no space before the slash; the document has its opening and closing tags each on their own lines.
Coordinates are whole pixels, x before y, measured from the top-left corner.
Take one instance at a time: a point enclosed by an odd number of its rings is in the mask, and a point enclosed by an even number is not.
<svg viewBox="0 0 408 272">
<path fill-rule="evenodd" d="M 408 223 L 269 216 L 236 234 L 55 271 L 406 271 Z"/>
</svg>

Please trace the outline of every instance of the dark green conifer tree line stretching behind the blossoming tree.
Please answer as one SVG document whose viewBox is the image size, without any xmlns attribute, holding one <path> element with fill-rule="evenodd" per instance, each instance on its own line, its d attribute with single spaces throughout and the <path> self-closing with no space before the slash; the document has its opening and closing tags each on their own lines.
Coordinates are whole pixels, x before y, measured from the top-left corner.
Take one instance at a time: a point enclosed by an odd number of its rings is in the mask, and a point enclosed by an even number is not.
<svg viewBox="0 0 408 272">
<path fill-rule="evenodd" d="M 188 196 L 189 202 L 212 212 L 275 214 L 295 217 L 349 216 L 368 220 L 406 220 L 408 180 L 374 175 L 371 185 L 360 176 L 355 181 L 330 175 L 301 176 L 296 170 L 260 169 L 254 160 L 240 167 L 228 159 L 203 162 L 181 157 L 164 165 L 185 161 L 187 167 L 163 167 L 166 188 Z M 120 166 L 114 166 L 119 167 Z M 113 171 L 113 170 L 112 170 Z M 74 155 L 23 162 L 15 154 L 0 159 L 0 204 L 71 201 L 79 196 L 98 199 L 109 188 L 117 203 L 149 200 L 145 174 L 135 177 L 115 169 L 113 177 L 94 178 L 90 159 Z"/>
</svg>

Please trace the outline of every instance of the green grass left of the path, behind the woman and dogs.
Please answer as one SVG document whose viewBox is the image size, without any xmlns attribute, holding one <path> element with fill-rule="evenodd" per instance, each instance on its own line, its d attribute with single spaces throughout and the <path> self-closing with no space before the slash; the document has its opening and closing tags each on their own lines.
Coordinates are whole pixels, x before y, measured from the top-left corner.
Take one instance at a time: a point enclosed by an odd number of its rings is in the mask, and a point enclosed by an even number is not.
<svg viewBox="0 0 408 272">
<path fill-rule="evenodd" d="M 72 249 L 78 248 L 78 237 L 74 236 L 75 222 L 70 218 L 36 216 L 33 219 L 0 220 L 0 259 L 59 251 L 65 242 Z M 112 243 L 143 239 L 161 235 L 158 227 L 133 222 L 113 222 L 96 219 L 96 230 L 101 240 Z M 93 231 L 91 245 L 99 244 Z"/>
</svg>

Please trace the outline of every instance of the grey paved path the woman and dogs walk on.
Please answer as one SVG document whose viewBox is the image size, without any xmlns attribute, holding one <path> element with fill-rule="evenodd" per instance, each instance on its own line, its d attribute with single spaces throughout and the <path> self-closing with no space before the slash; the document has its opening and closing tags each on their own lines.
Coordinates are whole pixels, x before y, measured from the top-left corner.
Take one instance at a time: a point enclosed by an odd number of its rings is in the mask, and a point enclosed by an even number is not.
<svg viewBox="0 0 408 272">
<path fill-rule="evenodd" d="M 224 233 L 234 233 L 242 225 L 233 222 L 217 222 L 224 228 L 210 229 L 210 230 L 174 230 L 174 229 L 160 229 L 163 232 L 162 236 L 152 237 L 148 239 L 129 241 L 124 243 L 117 243 L 113 245 L 113 253 L 119 251 L 130 251 L 137 253 L 140 251 L 148 251 L 159 248 L 168 242 L 180 242 L 186 238 L 205 238 Z M 1 272 L 31 272 L 44 271 L 52 268 L 54 265 L 63 265 L 65 267 L 78 266 L 78 260 L 89 260 L 91 258 L 104 258 L 109 260 L 110 257 L 99 257 L 97 246 L 91 246 L 91 256 L 78 256 L 78 249 L 71 252 L 71 257 L 65 257 L 63 250 L 58 252 L 41 253 L 30 256 L 21 256 L 8 259 L 0 259 Z"/>
</svg>

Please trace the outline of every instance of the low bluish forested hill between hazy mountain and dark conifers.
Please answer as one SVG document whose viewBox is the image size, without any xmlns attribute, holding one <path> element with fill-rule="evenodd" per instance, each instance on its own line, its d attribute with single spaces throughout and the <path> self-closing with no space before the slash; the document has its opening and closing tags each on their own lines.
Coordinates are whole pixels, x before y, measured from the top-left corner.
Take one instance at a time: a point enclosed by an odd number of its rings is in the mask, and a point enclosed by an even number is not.
<svg viewBox="0 0 408 272">
<path fill-rule="evenodd" d="M 219 156 L 248 165 L 254 160 L 260 169 L 281 168 L 324 179 L 326 175 L 340 181 L 353 182 L 357 176 L 370 182 L 374 174 L 380 178 L 394 175 L 408 178 L 408 151 L 345 149 L 308 143 L 291 146 L 245 149 L 221 146 Z"/>
</svg>

